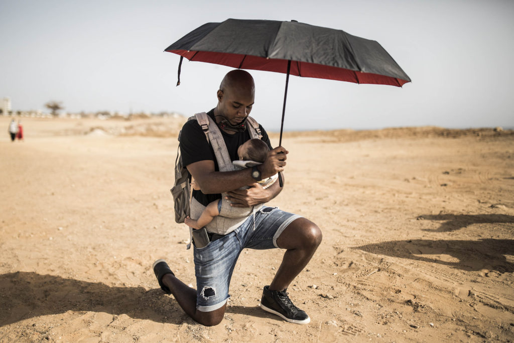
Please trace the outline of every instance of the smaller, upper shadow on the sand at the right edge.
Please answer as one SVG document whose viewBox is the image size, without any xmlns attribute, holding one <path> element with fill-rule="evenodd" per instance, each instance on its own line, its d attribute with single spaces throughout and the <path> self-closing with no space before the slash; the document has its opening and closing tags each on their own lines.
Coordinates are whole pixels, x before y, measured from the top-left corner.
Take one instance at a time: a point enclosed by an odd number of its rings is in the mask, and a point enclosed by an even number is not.
<svg viewBox="0 0 514 343">
<path fill-rule="evenodd" d="M 471 224 L 514 223 L 514 216 L 507 214 L 423 214 L 417 219 L 445 221 L 437 229 L 423 229 L 432 232 L 460 230 Z"/>
</svg>

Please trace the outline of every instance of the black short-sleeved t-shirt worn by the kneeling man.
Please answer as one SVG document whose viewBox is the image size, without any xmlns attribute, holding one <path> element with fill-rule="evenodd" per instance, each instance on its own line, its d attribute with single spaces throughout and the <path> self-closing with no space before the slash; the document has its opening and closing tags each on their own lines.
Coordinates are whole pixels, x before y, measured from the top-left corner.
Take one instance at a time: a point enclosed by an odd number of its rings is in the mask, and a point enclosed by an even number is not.
<svg viewBox="0 0 514 343">
<path fill-rule="evenodd" d="M 214 109 L 209 111 L 207 115 L 215 121 Z M 271 149 L 271 142 L 269 141 L 268 134 L 261 124 L 259 124 L 259 128 L 261 129 L 262 140 L 266 142 L 268 147 Z M 227 146 L 230 159 L 239 159 L 237 156 L 237 148 L 250 139 L 248 130 L 245 132 L 237 132 L 235 134 L 228 134 L 223 130 L 219 131 L 221 131 L 223 140 L 225 140 L 225 145 Z M 182 133 L 180 134 L 180 155 L 182 156 L 184 166 L 188 166 L 198 161 L 212 160 L 214 161 L 214 170 L 219 171 L 214 150 L 209 142 L 207 142 L 205 133 L 201 130 L 200 125 L 196 120 L 189 120 L 182 127 Z M 221 194 L 204 194 L 197 190 L 193 190 L 193 196 L 204 206 L 207 206 L 207 204 L 217 199 L 221 199 Z"/>
</svg>

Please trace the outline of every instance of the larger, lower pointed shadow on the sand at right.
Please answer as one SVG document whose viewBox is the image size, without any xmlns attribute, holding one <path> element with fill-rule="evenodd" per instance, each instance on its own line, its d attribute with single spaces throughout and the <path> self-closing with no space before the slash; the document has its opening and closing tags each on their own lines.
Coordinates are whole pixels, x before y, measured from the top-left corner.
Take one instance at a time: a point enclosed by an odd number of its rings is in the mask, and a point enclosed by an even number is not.
<svg viewBox="0 0 514 343">
<path fill-rule="evenodd" d="M 468 271 L 489 269 L 499 273 L 514 272 L 514 263 L 505 257 L 514 255 L 514 240 L 405 240 L 366 244 L 353 249 Z"/>
</svg>

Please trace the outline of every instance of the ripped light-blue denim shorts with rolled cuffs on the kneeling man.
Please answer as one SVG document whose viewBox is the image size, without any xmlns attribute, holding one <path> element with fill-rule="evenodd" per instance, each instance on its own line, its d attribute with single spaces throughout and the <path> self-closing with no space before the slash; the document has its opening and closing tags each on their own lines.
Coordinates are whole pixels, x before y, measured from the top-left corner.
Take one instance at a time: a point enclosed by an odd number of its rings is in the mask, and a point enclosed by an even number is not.
<svg viewBox="0 0 514 343">
<path fill-rule="evenodd" d="M 301 218 L 298 214 L 264 206 L 255 212 L 255 223 L 250 215 L 240 227 L 222 238 L 200 249 L 194 247 L 196 308 L 202 312 L 221 308 L 230 298 L 230 279 L 241 251 L 278 248 L 280 234 L 298 218 Z"/>
</svg>

